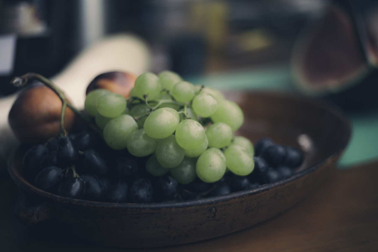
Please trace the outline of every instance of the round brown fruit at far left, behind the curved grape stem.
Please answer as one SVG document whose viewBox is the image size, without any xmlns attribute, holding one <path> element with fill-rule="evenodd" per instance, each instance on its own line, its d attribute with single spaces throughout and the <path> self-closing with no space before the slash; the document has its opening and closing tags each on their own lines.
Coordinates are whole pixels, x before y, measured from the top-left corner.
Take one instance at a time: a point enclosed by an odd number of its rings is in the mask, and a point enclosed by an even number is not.
<svg viewBox="0 0 378 252">
<path fill-rule="evenodd" d="M 59 134 L 62 101 L 46 86 L 32 87 L 22 92 L 8 115 L 12 131 L 21 143 L 44 143 Z M 66 108 L 64 128 L 70 131 L 75 121 L 74 112 Z"/>
</svg>

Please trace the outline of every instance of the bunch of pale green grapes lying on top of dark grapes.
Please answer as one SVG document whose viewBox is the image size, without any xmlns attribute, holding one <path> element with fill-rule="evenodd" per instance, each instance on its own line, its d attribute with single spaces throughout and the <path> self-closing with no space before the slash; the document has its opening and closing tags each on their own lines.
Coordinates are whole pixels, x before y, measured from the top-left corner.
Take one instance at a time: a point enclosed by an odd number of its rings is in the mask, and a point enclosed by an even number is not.
<svg viewBox="0 0 378 252">
<path fill-rule="evenodd" d="M 113 149 L 147 157 L 154 176 L 169 172 L 181 184 L 197 176 L 215 182 L 226 171 L 245 176 L 253 171 L 254 149 L 234 131 L 243 112 L 221 92 L 193 85 L 177 73 L 143 73 L 130 97 L 97 89 L 88 94 L 85 110 L 95 117 Z"/>
</svg>

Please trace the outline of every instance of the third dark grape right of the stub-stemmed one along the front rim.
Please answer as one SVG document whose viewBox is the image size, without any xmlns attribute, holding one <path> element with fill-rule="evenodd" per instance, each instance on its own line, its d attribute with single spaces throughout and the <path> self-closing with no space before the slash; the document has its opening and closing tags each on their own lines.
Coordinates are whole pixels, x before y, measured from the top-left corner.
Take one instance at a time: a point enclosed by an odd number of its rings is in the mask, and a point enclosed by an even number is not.
<svg viewBox="0 0 378 252">
<path fill-rule="evenodd" d="M 148 203 L 153 198 L 153 188 L 149 179 L 138 179 L 130 188 L 129 199 L 133 203 Z"/>
</svg>

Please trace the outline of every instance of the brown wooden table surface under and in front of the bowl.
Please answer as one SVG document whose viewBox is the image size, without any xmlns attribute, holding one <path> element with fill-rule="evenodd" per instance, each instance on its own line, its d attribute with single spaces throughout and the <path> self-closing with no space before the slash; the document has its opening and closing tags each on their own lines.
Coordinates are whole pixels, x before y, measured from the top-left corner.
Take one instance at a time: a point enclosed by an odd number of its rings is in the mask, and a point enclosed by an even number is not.
<svg viewBox="0 0 378 252">
<path fill-rule="evenodd" d="M 22 226 L 13 213 L 15 187 L 8 174 L 0 175 L 0 251 L 378 251 L 378 161 L 335 170 L 315 193 L 257 226 L 157 249 L 95 247 Z"/>
</svg>

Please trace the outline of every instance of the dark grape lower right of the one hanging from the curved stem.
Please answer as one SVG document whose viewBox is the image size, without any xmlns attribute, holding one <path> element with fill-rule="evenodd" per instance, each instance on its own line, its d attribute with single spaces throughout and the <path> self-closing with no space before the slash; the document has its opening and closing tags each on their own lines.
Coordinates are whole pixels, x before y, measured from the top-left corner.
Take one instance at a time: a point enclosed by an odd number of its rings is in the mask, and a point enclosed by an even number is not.
<svg viewBox="0 0 378 252">
<path fill-rule="evenodd" d="M 84 172 L 94 173 L 98 176 L 104 176 L 108 172 L 106 160 L 94 149 L 88 149 L 84 152 L 81 166 Z"/>
</svg>

